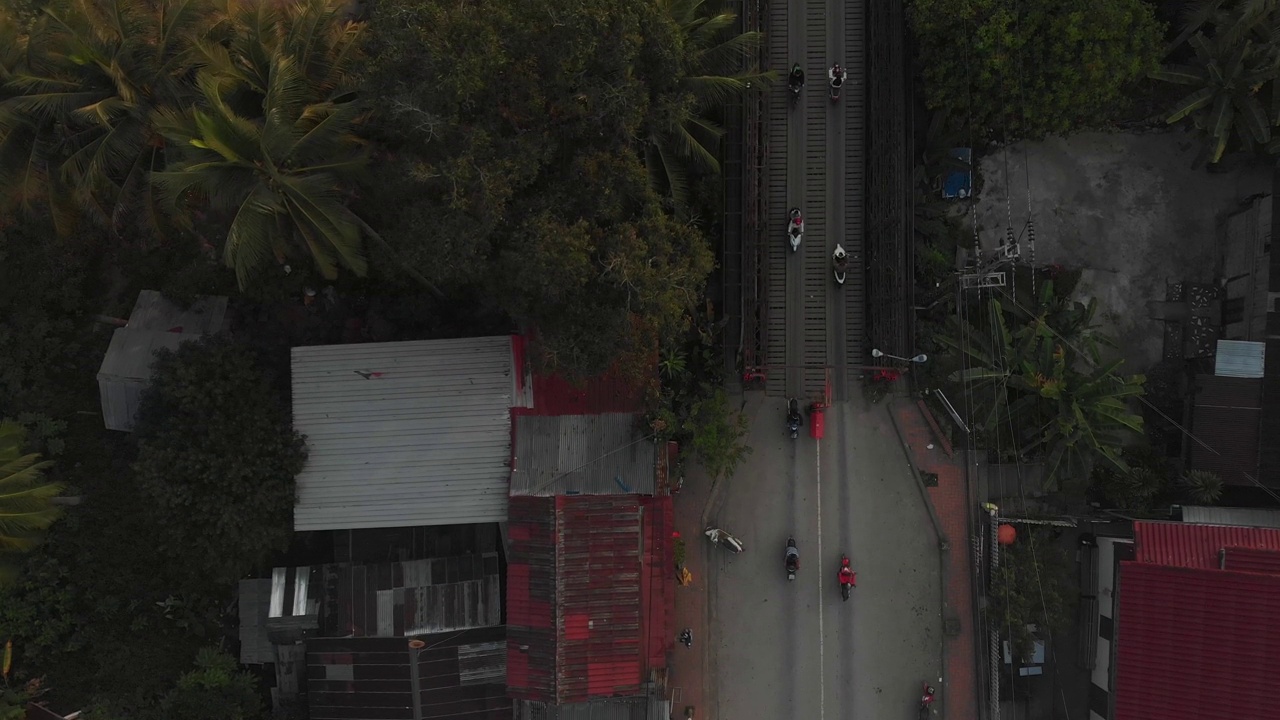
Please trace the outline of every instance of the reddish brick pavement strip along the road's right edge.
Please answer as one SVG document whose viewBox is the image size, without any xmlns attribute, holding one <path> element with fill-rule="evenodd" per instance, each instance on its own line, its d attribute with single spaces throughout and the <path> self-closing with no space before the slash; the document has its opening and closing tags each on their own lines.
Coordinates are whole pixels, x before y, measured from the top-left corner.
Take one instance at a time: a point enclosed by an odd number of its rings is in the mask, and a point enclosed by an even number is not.
<svg viewBox="0 0 1280 720">
<path fill-rule="evenodd" d="M 943 552 L 946 583 L 943 621 L 957 620 L 960 633 L 946 637 L 943 648 L 942 701 L 946 720 L 977 720 L 978 674 L 974 656 L 973 569 L 969 560 L 969 492 L 961 460 L 948 457 L 933 434 L 920 407 L 895 401 L 890 415 L 908 457 L 923 482 L 924 473 L 934 473 L 938 484 L 928 488 L 929 515 L 937 524 L 938 537 L 947 538 Z M 931 427 L 933 425 L 933 427 Z M 933 445 L 933 448 L 929 448 Z"/>
</svg>

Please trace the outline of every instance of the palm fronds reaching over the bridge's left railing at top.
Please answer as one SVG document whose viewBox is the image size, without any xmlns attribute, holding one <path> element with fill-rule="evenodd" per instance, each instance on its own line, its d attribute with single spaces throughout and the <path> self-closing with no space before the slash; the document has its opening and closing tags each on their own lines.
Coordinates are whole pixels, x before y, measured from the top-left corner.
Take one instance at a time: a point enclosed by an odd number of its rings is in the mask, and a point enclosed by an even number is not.
<svg viewBox="0 0 1280 720">
<path fill-rule="evenodd" d="M 664 192 L 676 211 L 689 201 L 689 170 L 719 173 L 723 128 L 708 114 L 751 90 L 767 87 L 776 73 L 759 72 L 750 54 L 763 35 L 732 35 L 737 17 L 709 10 L 707 0 L 655 0 L 681 38 L 681 74 L 673 92 L 652 113 L 645 138 L 650 184 Z"/>
</svg>

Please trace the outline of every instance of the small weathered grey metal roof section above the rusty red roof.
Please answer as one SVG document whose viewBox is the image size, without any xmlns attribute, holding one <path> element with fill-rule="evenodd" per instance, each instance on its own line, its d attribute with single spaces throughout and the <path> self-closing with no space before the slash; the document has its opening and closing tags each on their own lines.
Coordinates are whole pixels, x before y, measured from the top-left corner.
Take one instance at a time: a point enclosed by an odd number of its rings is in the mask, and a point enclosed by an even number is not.
<svg viewBox="0 0 1280 720">
<path fill-rule="evenodd" d="M 511 495 L 653 495 L 658 457 L 639 415 L 517 415 Z"/>
</svg>

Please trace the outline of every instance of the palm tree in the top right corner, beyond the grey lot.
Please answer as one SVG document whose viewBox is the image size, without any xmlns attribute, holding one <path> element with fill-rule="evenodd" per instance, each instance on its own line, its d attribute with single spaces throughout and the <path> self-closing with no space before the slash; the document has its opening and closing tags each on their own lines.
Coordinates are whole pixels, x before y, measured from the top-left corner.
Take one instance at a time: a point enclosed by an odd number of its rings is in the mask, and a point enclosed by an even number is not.
<svg viewBox="0 0 1280 720">
<path fill-rule="evenodd" d="M 1208 138 L 1210 163 L 1222 159 L 1233 137 L 1248 151 L 1267 145 L 1271 119 L 1258 101 L 1258 91 L 1280 77 L 1280 49 L 1253 40 L 1207 38 L 1202 32 L 1188 42 L 1196 50 L 1194 64 L 1165 65 L 1151 73 L 1155 79 L 1194 88 L 1174 105 L 1166 122 L 1189 117 Z"/>
</svg>

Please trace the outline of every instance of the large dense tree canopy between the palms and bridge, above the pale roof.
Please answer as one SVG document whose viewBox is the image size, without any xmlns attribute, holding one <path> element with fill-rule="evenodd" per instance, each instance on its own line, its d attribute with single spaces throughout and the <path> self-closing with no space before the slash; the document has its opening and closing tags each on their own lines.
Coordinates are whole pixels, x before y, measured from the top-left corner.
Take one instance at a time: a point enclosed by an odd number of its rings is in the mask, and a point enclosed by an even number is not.
<svg viewBox="0 0 1280 720">
<path fill-rule="evenodd" d="M 389 152 L 365 206 L 394 218 L 393 247 L 442 286 L 484 287 L 571 372 L 684 323 L 710 252 L 663 211 L 637 149 L 652 87 L 684 95 L 669 17 L 650 3 L 411 0 L 369 35 Z"/>
</svg>

